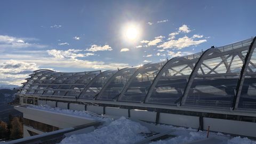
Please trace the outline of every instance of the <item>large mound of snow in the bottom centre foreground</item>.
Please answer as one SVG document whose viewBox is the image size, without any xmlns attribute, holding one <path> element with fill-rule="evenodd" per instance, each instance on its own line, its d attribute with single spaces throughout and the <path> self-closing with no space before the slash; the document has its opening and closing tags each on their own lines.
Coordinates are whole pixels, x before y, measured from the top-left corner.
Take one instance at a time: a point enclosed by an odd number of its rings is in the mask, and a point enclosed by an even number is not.
<svg viewBox="0 0 256 144">
<path fill-rule="evenodd" d="M 147 127 L 121 117 L 91 133 L 71 135 L 63 139 L 61 143 L 134 143 L 145 139 L 140 133 L 148 132 Z"/>
</svg>

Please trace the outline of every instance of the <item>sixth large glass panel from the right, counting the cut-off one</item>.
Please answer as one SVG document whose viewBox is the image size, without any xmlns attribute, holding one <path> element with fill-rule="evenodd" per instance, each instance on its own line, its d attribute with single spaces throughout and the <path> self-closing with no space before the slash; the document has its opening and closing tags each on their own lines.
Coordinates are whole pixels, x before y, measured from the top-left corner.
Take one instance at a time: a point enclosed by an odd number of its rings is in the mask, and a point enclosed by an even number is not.
<svg viewBox="0 0 256 144">
<path fill-rule="evenodd" d="M 108 79 L 116 73 L 116 70 L 104 71 L 97 77 L 92 79 L 93 83 L 86 87 L 86 89 L 81 93 L 81 99 L 92 99 L 96 94 L 100 92 L 102 86 L 105 85 Z"/>
</svg>

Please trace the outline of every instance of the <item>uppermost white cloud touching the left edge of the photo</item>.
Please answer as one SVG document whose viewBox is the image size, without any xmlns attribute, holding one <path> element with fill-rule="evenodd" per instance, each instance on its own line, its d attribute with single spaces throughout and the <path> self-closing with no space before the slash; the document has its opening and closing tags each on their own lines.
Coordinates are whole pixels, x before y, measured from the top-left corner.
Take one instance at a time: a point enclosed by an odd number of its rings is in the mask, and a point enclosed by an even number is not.
<svg viewBox="0 0 256 144">
<path fill-rule="evenodd" d="M 38 39 L 17 38 L 13 36 L 0 35 L 0 48 L 8 49 L 8 48 L 25 48 L 25 47 L 35 47 L 35 48 L 46 47 L 46 45 L 30 43 L 31 41 L 38 41 Z"/>
</svg>

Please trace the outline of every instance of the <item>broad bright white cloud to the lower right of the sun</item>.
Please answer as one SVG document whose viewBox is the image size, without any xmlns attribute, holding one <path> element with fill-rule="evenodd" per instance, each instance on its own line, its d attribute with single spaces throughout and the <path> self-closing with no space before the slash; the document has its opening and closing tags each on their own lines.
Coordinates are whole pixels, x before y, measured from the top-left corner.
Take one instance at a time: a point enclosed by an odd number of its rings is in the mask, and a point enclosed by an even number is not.
<svg viewBox="0 0 256 144">
<path fill-rule="evenodd" d="M 206 42 L 206 39 L 195 40 L 193 37 L 181 37 L 179 39 L 171 39 L 170 41 L 164 42 L 157 47 L 161 47 L 163 49 L 182 49 L 184 47 L 198 45 Z"/>
</svg>

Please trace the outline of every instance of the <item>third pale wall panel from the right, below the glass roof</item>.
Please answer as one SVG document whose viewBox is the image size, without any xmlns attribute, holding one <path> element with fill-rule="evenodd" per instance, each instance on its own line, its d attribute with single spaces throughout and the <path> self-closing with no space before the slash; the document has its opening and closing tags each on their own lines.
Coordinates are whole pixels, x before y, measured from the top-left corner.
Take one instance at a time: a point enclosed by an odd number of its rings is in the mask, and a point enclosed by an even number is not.
<svg viewBox="0 0 256 144">
<path fill-rule="evenodd" d="M 148 122 L 156 122 L 156 112 L 147 110 L 130 110 L 131 119 L 138 119 Z"/>
</svg>

